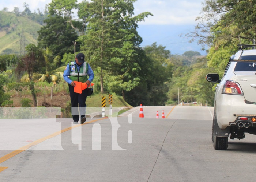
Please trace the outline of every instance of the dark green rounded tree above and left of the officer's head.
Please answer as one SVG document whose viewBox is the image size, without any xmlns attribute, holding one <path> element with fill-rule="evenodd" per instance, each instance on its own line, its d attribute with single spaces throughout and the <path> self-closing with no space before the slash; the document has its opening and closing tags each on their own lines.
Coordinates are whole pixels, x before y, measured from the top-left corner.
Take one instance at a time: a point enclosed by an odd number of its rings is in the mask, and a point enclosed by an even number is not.
<svg viewBox="0 0 256 182">
<path fill-rule="evenodd" d="M 78 35 L 67 20 L 67 17 L 61 16 L 50 16 L 44 20 L 46 25 L 38 31 L 38 46 L 48 47 L 54 56 L 74 52 L 73 41 Z"/>
</svg>

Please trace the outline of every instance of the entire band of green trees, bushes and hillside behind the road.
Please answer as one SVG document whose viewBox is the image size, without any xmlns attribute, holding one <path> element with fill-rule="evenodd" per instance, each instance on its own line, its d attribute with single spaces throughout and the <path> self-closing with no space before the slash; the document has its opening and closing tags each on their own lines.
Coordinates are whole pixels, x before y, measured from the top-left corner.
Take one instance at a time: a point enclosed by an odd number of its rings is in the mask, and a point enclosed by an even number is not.
<svg viewBox="0 0 256 182">
<path fill-rule="evenodd" d="M 0 11 L 1 42 L 10 35 L 20 40 L 19 52 L 0 47 L 0 106 L 61 107 L 68 115 L 68 86 L 62 74 L 76 52 L 86 55 L 95 73 L 94 94 L 86 102 L 90 107 L 101 107 L 101 96 L 108 99 L 108 93 L 114 95 L 113 107 L 179 102 L 213 106 L 215 84 L 205 76 L 222 74 L 237 44 L 255 41 L 256 2 L 204 2 L 195 32 L 187 36 L 208 46 L 207 56 L 197 51 L 173 55 L 157 43 L 140 47 L 137 23 L 152 14 L 134 16 L 134 2 L 53 0 L 45 12 L 32 13 L 26 3 L 23 12 L 17 7 Z M 31 22 L 37 28 L 28 35 L 24 24 Z"/>
</svg>

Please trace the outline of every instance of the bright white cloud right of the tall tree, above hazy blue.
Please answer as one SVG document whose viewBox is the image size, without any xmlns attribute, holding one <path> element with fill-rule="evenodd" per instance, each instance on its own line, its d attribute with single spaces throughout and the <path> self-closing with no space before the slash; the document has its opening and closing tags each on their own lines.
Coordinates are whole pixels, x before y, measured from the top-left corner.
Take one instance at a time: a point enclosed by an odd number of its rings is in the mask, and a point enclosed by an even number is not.
<svg viewBox="0 0 256 182">
<path fill-rule="evenodd" d="M 149 16 L 139 24 L 182 25 L 195 24 L 201 11 L 202 0 L 138 0 L 134 3 L 135 15 L 149 11 Z"/>
</svg>

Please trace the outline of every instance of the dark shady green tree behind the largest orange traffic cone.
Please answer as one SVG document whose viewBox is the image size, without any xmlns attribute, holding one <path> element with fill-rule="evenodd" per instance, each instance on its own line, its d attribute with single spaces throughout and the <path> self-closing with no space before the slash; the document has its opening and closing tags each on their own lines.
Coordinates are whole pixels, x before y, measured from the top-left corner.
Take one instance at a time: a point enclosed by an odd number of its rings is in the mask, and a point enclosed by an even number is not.
<svg viewBox="0 0 256 182">
<path fill-rule="evenodd" d="M 126 100 L 132 106 L 165 105 L 167 101 L 168 79 L 172 76 L 173 64 L 170 63 L 170 51 L 164 46 L 153 43 L 138 51 L 138 72 L 140 83 L 126 92 Z"/>
</svg>

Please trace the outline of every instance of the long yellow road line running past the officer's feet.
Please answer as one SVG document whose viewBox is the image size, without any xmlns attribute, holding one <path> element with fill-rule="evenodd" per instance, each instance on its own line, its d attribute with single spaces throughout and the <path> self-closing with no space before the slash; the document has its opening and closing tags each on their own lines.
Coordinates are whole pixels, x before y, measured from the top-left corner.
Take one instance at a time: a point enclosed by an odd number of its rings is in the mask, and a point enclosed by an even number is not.
<svg viewBox="0 0 256 182">
<path fill-rule="evenodd" d="M 44 137 L 44 138 L 38 139 L 38 140 L 36 140 L 36 141 L 34 141 L 34 142 L 28 144 L 28 145 L 25 145 L 25 146 L 23 146 L 23 147 L 20 147 L 20 148 L 17 149 L 17 150 L 12 151 L 12 152 L 9 153 L 9 154 L 4 155 L 3 157 L 0 158 L 0 163 L 2 163 L 2 162 L 4 162 L 4 161 L 6 161 L 6 160 L 8 160 L 8 159 L 10 159 L 10 158 L 12 158 L 12 157 L 14 157 L 15 155 L 18 155 L 19 153 L 22 153 L 23 151 L 29 149 L 30 147 L 33 147 L 33 146 L 37 145 L 38 143 L 41 143 L 41 142 L 43 142 L 43 141 L 45 141 L 45 140 L 47 140 L 47 139 L 49 139 L 49 138 L 55 137 L 55 136 L 57 136 L 57 135 L 59 135 L 59 134 L 65 132 L 65 131 L 69 131 L 69 130 L 72 130 L 73 128 L 79 127 L 79 126 L 81 126 L 81 125 L 93 123 L 93 122 L 96 122 L 96 121 L 99 121 L 99 120 L 103 120 L 103 119 L 106 119 L 106 118 L 100 118 L 100 119 L 92 120 L 92 121 L 90 121 L 90 122 L 86 122 L 86 123 L 83 123 L 83 124 L 77 124 L 77 125 L 75 125 L 75 126 L 68 127 L 68 128 L 65 128 L 65 129 L 63 129 L 63 130 L 61 130 L 61 131 L 55 132 L 55 133 L 53 133 L 53 134 L 50 134 L 50 135 L 48 135 L 48 136 L 46 136 L 46 137 Z M 5 170 L 5 169 L 7 169 L 7 168 L 8 168 L 8 167 L 0 167 L 0 172 L 3 171 L 3 170 Z"/>
</svg>

